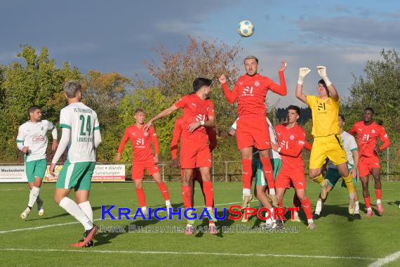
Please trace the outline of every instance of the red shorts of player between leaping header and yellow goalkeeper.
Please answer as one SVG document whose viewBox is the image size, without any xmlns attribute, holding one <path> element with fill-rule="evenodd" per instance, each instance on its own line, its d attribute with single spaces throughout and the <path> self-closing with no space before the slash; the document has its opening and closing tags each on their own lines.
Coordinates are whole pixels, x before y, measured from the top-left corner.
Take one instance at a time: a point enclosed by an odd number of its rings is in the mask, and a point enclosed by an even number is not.
<svg viewBox="0 0 400 267">
<path fill-rule="evenodd" d="M 275 179 L 275 188 L 305 189 L 304 169 L 281 169 Z"/>
</svg>

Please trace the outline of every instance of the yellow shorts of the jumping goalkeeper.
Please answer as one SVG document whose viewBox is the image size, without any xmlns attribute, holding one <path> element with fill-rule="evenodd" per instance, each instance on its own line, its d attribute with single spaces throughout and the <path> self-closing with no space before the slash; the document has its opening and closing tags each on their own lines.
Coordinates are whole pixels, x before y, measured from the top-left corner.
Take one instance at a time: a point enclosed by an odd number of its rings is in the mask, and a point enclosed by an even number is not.
<svg viewBox="0 0 400 267">
<path fill-rule="evenodd" d="M 335 165 L 347 162 L 347 155 L 339 134 L 314 138 L 311 155 L 309 155 L 309 169 L 321 168 L 327 157 Z"/>
</svg>

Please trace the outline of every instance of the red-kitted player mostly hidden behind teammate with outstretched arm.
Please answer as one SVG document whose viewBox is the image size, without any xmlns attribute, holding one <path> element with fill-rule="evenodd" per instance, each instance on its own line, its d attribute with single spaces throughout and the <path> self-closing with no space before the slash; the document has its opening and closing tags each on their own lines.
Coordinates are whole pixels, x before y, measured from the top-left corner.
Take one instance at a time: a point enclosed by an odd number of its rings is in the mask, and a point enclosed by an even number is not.
<svg viewBox="0 0 400 267">
<path fill-rule="evenodd" d="M 183 174 L 183 169 L 180 168 L 180 162 L 178 159 L 178 142 L 180 139 L 180 136 L 182 135 L 182 127 L 183 127 L 183 117 L 178 117 L 178 119 L 175 120 L 175 125 L 173 127 L 173 134 L 172 134 L 172 141 L 171 141 L 171 156 L 172 156 L 172 161 L 173 161 L 173 167 L 176 167 L 180 169 L 180 176 L 184 177 Z M 210 141 L 210 152 L 213 152 L 215 147 L 217 146 L 217 129 L 215 127 L 212 128 L 206 128 L 207 135 L 208 135 L 208 140 Z M 201 179 L 201 174 L 198 169 L 194 171 L 193 175 L 193 181 L 192 181 L 192 207 L 194 206 L 194 182 L 197 181 L 200 185 L 201 188 L 201 193 L 203 193 L 204 197 L 204 203 L 206 203 L 206 194 L 204 194 L 204 185 L 203 185 L 203 180 Z M 214 207 L 214 203 L 213 203 Z"/>
</svg>

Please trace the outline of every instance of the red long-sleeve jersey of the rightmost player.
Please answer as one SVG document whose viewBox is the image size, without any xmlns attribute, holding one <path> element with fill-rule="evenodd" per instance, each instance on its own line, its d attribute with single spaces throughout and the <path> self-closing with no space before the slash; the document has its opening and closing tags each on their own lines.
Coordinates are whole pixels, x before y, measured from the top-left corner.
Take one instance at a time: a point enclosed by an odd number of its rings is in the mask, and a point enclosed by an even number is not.
<svg viewBox="0 0 400 267">
<path fill-rule="evenodd" d="M 364 124 L 363 121 L 356 122 L 348 133 L 353 136 L 356 134 L 360 157 L 378 157 L 378 154 L 373 150 L 378 145 L 378 138 L 383 142 L 379 147 L 380 150 L 384 150 L 390 145 L 389 136 L 387 136 L 385 128 L 376 122 L 369 125 Z"/>
</svg>

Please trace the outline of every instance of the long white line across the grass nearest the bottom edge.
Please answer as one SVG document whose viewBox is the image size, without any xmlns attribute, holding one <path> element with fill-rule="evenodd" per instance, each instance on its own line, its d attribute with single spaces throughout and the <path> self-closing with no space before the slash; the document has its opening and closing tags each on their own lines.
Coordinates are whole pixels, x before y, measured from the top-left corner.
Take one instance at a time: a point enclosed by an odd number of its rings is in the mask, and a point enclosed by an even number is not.
<svg viewBox="0 0 400 267">
<path fill-rule="evenodd" d="M 172 254 L 172 255 L 208 255 L 208 256 L 247 256 L 247 257 L 290 257 L 290 258 L 309 258 L 309 259 L 361 259 L 375 261 L 376 258 L 363 258 L 359 256 L 321 256 L 321 255 L 295 255 L 295 254 L 241 254 L 241 253 L 218 253 L 218 252 L 154 252 L 154 251 L 129 251 L 129 250 L 93 250 L 93 249 L 0 249 L 0 251 L 14 252 L 81 252 L 81 253 L 100 253 L 100 254 Z M 380 260 L 380 259 L 379 259 Z"/>
</svg>

